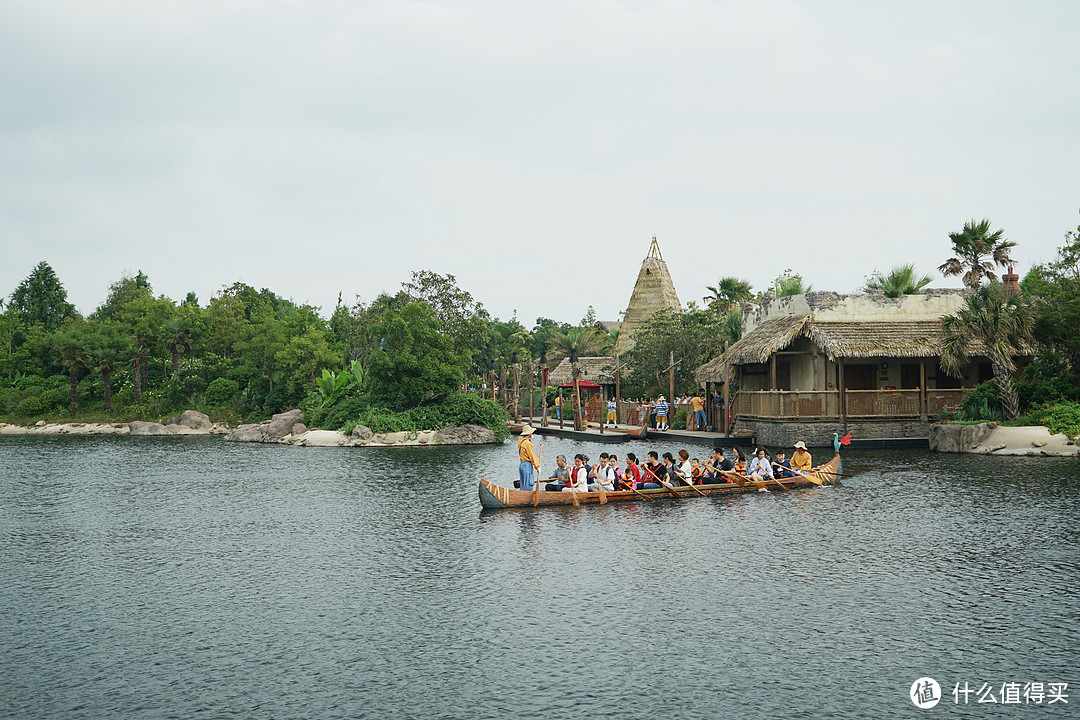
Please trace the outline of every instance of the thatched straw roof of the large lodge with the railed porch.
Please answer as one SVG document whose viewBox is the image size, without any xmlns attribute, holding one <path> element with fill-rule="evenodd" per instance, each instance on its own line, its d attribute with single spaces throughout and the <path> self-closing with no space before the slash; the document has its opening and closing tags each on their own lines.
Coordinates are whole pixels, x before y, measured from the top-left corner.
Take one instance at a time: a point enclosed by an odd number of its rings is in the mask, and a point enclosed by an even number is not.
<svg viewBox="0 0 1080 720">
<path fill-rule="evenodd" d="M 769 357 L 798 338 L 809 338 L 831 361 L 839 357 L 936 357 L 945 331 L 941 320 L 818 322 L 811 315 L 787 315 L 765 321 L 731 345 L 726 354 L 708 361 L 694 379 L 723 382 L 727 365 L 767 363 Z"/>
</svg>

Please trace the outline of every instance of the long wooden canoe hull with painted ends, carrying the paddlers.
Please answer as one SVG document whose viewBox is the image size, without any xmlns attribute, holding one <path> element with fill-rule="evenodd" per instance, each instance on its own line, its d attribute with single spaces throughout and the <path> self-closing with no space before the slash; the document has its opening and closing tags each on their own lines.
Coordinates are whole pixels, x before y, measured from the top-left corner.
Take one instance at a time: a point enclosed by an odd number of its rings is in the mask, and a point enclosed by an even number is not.
<svg viewBox="0 0 1080 720">
<path fill-rule="evenodd" d="M 815 487 L 818 485 L 833 485 L 836 483 L 836 478 L 840 467 L 840 453 L 837 452 L 824 465 L 819 465 L 804 476 L 796 475 L 795 477 L 783 478 L 783 484 L 787 488 L 808 488 Z M 813 478 L 813 479 L 811 479 Z M 818 480 L 818 481 L 814 481 Z M 724 483 L 720 485 L 696 485 L 693 486 L 701 493 L 705 495 L 724 495 L 732 494 L 735 492 L 757 492 L 759 488 L 766 490 L 780 490 L 775 483 L 771 480 L 766 480 L 765 483 L 755 486 L 753 483 L 746 481 L 743 485 L 735 485 L 733 483 Z M 686 486 L 675 486 L 675 490 L 678 494 L 684 498 L 700 498 L 701 494 L 694 492 Z M 495 485 L 494 483 L 488 483 L 485 479 L 480 481 L 480 503 L 484 507 L 489 508 L 500 508 L 500 507 L 532 507 L 534 499 L 539 495 L 539 501 L 537 505 L 572 505 L 573 494 L 572 492 L 548 492 L 546 490 L 541 490 L 539 493 L 534 493 L 531 490 L 516 490 L 514 488 L 504 488 L 500 485 Z M 608 492 L 607 501 L 610 502 L 643 502 L 646 497 L 653 500 L 658 499 L 670 499 L 674 500 L 673 493 L 666 488 L 659 488 L 656 490 L 638 490 L 634 492 L 633 490 L 616 490 L 615 492 Z M 598 492 L 579 492 L 578 502 L 583 504 L 599 504 L 600 495 Z"/>
</svg>

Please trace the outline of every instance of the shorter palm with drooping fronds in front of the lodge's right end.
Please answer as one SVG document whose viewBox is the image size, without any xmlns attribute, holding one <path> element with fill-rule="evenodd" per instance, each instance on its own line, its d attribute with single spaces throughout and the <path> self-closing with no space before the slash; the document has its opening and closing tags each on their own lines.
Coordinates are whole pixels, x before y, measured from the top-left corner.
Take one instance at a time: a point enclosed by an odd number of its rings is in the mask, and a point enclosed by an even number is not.
<svg viewBox="0 0 1080 720">
<path fill-rule="evenodd" d="M 1034 342 L 1034 325 L 1030 307 L 1018 293 L 1007 291 L 1001 283 L 984 285 L 968 295 L 955 314 L 942 318 L 942 368 L 959 377 L 961 363 L 970 356 L 987 357 L 1001 396 L 1002 415 L 1013 420 L 1020 416 L 1020 396 L 1012 382 L 1016 371 L 1013 355 Z"/>
</svg>

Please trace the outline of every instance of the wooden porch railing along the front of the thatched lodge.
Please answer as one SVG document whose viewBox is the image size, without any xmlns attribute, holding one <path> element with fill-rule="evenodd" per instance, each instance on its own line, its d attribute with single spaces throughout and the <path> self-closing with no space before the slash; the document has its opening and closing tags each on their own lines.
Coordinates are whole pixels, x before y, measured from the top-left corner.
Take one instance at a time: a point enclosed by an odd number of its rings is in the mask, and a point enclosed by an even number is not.
<svg viewBox="0 0 1080 720">
<path fill-rule="evenodd" d="M 918 390 L 848 390 L 843 405 L 849 418 L 917 418 L 923 415 Z M 927 390 L 928 416 L 960 407 L 962 390 Z M 827 391 L 742 391 L 732 399 L 735 416 L 754 418 L 839 418 L 840 393 Z"/>
</svg>

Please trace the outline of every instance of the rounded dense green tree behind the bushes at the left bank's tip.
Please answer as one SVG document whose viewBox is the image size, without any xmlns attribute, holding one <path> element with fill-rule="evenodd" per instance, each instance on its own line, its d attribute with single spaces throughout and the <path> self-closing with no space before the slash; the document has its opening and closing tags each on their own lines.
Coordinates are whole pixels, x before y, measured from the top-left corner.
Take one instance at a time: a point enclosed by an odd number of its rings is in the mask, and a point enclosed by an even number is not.
<svg viewBox="0 0 1080 720">
<path fill-rule="evenodd" d="M 366 363 L 376 403 L 391 410 L 417 407 L 449 396 L 464 382 L 467 361 L 454 351 L 426 302 L 388 311 L 372 329 L 380 338 Z"/>
</svg>

